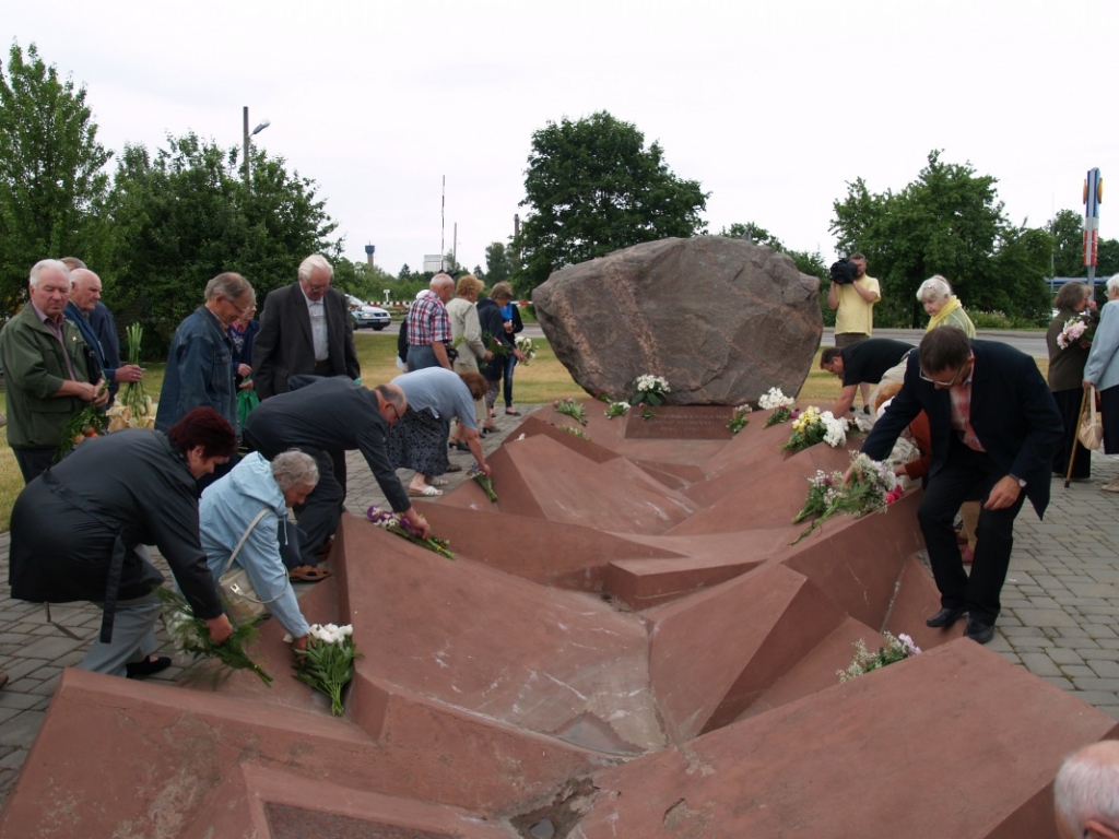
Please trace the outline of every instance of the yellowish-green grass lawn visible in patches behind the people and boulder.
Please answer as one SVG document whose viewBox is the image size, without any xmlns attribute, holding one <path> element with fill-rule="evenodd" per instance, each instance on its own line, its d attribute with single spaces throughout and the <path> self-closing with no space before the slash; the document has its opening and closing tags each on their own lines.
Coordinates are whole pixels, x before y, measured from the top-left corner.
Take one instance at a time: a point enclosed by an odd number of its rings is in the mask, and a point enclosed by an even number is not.
<svg viewBox="0 0 1119 839">
<path fill-rule="evenodd" d="M 575 384 L 567 369 L 556 361 L 555 353 L 544 339 L 537 338 L 536 358 L 530 365 L 517 366 L 517 402 L 524 405 L 539 405 L 568 396 L 582 398 L 584 390 Z M 361 380 L 367 386 L 379 385 L 399 375 L 396 368 L 396 336 L 379 332 L 356 332 L 354 345 L 361 364 Z M 818 405 L 827 409 L 839 396 L 839 379 L 819 368 L 820 355 L 812 359 L 812 369 L 797 395 L 799 403 Z M 1036 359 L 1044 376 L 1049 371 L 1046 359 Z M 144 367 L 144 388 L 152 398 L 159 396 L 163 384 L 163 365 Z M 2 399 L 2 392 L 0 392 Z M 11 507 L 16 496 L 23 488 L 23 479 L 16 465 L 16 458 L 8 446 L 8 440 L 0 441 L 0 531 L 8 529 Z"/>
</svg>

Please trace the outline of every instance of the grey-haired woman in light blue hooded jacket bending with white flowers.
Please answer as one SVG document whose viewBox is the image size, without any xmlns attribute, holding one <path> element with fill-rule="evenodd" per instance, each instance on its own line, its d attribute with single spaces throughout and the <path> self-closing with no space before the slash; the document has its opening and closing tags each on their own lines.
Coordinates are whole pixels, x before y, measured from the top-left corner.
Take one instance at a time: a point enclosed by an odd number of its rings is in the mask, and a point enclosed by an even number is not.
<svg viewBox="0 0 1119 839">
<path fill-rule="evenodd" d="M 278 529 L 280 518 L 288 516 L 288 507 L 302 503 L 318 482 L 314 460 L 303 452 L 283 452 L 271 463 L 253 452 L 208 487 L 199 506 L 203 549 L 215 581 L 225 574 L 229 555 L 253 519 L 267 510 L 248 534 L 233 566 L 245 569 L 256 595 L 295 639 L 297 649 L 307 649 L 309 628 L 280 557 Z"/>
</svg>

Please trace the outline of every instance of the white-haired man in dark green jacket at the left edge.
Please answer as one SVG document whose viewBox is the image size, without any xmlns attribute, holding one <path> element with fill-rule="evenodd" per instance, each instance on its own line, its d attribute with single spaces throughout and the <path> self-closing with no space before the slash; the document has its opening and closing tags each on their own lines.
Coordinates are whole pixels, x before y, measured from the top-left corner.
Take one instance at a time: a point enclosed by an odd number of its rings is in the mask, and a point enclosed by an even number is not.
<svg viewBox="0 0 1119 839">
<path fill-rule="evenodd" d="M 109 400 L 96 356 L 64 314 L 69 291 L 66 265 L 37 262 L 28 277 L 30 300 L 0 333 L 8 443 L 25 483 L 50 465 L 70 416 Z"/>
</svg>

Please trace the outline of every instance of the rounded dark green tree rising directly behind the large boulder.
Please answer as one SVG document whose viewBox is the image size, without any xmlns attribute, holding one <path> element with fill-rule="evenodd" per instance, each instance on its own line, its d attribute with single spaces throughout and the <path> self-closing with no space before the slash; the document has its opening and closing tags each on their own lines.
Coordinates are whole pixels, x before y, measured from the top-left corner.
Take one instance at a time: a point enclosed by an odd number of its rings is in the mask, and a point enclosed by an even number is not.
<svg viewBox="0 0 1119 839">
<path fill-rule="evenodd" d="M 533 134 L 525 172 L 520 285 L 640 242 L 702 233 L 707 195 L 668 169 L 659 143 L 646 149 L 645 134 L 604 111 L 549 122 Z"/>
</svg>

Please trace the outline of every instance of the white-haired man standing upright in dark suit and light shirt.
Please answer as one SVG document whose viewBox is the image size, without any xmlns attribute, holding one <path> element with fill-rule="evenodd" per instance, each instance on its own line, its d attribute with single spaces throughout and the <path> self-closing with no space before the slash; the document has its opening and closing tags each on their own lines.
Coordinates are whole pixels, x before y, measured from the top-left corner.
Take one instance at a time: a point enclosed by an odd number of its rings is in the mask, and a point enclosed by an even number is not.
<svg viewBox="0 0 1119 839">
<path fill-rule="evenodd" d="M 335 270 L 320 254 L 299 266 L 299 282 L 264 301 L 253 345 L 253 380 L 264 400 L 288 393 L 291 376 L 349 376 L 360 380 L 354 321 L 346 296 L 330 287 Z"/>
</svg>

